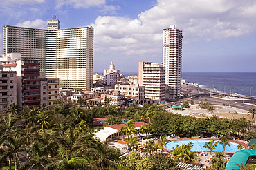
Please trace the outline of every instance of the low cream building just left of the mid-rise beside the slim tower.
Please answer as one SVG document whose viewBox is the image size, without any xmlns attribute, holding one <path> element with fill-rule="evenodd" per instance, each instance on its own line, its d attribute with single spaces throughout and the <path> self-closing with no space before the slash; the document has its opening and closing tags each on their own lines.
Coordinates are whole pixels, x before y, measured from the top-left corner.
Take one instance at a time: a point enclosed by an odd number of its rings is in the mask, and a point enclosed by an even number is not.
<svg viewBox="0 0 256 170">
<path fill-rule="evenodd" d="M 115 85 L 115 90 L 125 97 L 131 99 L 133 105 L 143 105 L 145 103 L 145 86 L 136 85 Z M 129 102 L 129 99 L 127 100 Z"/>
</svg>

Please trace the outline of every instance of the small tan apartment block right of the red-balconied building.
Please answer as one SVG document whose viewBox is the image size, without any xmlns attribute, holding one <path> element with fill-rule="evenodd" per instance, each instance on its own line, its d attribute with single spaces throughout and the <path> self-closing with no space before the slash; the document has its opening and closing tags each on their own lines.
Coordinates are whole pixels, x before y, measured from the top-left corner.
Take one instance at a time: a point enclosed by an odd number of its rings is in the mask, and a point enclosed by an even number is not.
<svg viewBox="0 0 256 170">
<path fill-rule="evenodd" d="M 41 78 L 41 105 L 53 105 L 54 101 L 60 99 L 59 95 L 59 78 Z"/>
</svg>

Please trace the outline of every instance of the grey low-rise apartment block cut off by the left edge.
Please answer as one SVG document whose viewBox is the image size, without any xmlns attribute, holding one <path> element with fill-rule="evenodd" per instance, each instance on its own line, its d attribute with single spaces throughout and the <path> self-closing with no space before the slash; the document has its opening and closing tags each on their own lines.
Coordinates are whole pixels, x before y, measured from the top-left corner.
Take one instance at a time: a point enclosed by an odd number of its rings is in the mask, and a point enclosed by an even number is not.
<svg viewBox="0 0 256 170">
<path fill-rule="evenodd" d="M 17 104 L 16 72 L 0 71 L 0 111 L 6 111 L 11 103 Z"/>
</svg>

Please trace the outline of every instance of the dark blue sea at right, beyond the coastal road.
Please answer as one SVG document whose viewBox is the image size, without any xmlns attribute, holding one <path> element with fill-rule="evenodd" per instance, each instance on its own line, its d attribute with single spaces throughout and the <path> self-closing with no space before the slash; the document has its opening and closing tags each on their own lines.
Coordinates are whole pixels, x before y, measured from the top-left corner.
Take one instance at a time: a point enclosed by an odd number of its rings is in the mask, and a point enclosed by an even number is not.
<svg viewBox="0 0 256 170">
<path fill-rule="evenodd" d="M 186 82 L 219 92 L 256 97 L 256 73 L 195 73 L 183 72 Z"/>
</svg>

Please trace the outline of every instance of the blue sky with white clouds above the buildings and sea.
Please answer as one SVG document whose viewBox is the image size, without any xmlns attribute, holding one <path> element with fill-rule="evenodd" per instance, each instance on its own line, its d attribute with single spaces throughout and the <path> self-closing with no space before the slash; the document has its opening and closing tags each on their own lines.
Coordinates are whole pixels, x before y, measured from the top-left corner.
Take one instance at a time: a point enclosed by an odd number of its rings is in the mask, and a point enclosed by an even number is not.
<svg viewBox="0 0 256 170">
<path fill-rule="evenodd" d="M 93 26 L 94 72 L 162 63 L 163 28 L 183 30 L 183 72 L 256 72 L 256 0 L 1 0 L 0 24 Z M 2 53 L 2 31 L 0 33 Z"/>
</svg>

